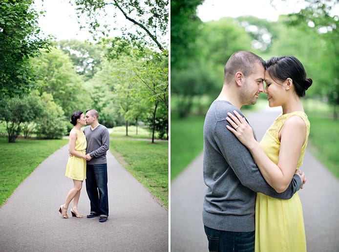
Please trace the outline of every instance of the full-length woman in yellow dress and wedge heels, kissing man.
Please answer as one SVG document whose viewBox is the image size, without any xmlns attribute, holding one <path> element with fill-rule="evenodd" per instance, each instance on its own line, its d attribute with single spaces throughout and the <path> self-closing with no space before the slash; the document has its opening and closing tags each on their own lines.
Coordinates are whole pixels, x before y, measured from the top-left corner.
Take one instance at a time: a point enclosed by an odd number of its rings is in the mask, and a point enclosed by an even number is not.
<svg viewBox="0 0 339 252">
<path fill-rule="evenodd" d="M 73 200 L 71 208 L 72 216 L 82 218 L 78 213 L 78 202 L 83 180 L 86 178 L 86 137 L 81 127 L 86 125 L 83 111 L 74 111 L 71 116 L 71 124 L 74 127 L 69 132 L 69 153 L 65 176 L 73 179 L 74 186 L 69 190 L 64 205 L 61 205 L 59 212 L 64 218 L 68 218 L 67 209 Z"/>
</svg>

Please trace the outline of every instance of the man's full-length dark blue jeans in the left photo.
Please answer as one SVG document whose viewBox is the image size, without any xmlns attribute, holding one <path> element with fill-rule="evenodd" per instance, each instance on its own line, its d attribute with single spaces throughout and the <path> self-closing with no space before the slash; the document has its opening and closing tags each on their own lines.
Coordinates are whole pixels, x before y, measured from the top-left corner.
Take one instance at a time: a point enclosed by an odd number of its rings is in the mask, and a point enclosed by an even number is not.
<svg viewBox="0 0 339 252">
<path fill-rule="evenodd" d="M 107 164 L 86 166 L 86 191 L 90 212 L 108 217 Z"/>
</svg>

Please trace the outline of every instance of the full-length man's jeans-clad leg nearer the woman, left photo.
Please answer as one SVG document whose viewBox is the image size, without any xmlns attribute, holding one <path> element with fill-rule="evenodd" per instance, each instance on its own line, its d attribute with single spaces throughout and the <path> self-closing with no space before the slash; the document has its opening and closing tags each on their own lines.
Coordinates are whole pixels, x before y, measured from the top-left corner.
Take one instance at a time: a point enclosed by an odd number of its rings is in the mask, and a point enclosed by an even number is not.
<svg viewBox="0 0 339 252">
<path fill-rule="evenodd" d="M 96 182 L 96 175 L 94 172 L 93 165 L 86 166 L 86 191 L 91 204 L 91 215 L 99 214 L 99 195 L 98 195 L 98 187 Z M 94 217 L 93 216 L 93 217 Z M 87 215 L 88 217 L 88 215 Z"/>
</svg>

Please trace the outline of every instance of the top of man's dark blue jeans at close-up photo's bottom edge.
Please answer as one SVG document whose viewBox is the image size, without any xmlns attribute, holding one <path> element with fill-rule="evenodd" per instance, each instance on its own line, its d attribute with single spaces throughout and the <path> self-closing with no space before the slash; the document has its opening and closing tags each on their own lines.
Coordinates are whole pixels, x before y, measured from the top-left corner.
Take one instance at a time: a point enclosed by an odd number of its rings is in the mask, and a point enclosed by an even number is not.
<svg viewBox="0 0 339 252">
<path fill-rule="evenodd" d="M 210 252 L 254 252 L 253 232 L 215 230 L 205 226 Z"/>
</svg>

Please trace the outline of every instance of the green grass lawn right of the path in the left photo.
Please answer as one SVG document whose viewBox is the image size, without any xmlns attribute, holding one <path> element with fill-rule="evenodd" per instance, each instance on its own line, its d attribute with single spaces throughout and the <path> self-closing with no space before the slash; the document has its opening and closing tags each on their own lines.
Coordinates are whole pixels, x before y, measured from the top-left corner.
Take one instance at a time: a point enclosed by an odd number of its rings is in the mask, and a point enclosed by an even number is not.
<svg viewBox="0 0 339 252">
<path fill-rule="evenodd" d="M 110 149 L 117 160 L 168 209 L 168 142 L 150 144 L 148 141 L 113 139 Z"/>
</svg>

